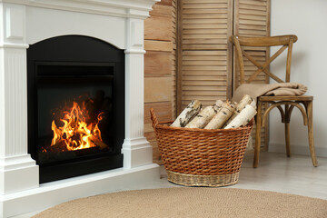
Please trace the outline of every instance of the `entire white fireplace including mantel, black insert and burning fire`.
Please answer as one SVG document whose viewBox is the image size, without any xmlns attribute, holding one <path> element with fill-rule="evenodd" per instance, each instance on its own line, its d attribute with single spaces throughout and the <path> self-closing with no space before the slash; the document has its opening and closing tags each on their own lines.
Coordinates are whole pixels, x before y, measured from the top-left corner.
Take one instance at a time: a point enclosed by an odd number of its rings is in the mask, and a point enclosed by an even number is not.
<svg viewBox="0 0 327 218">
<path fill-rule="evenodd" d="M 144 19 L 156 1 L 0 1 L 0 217 L 159 179 L 144 138 Z M 82 136 L 70 135 L 77 121 Z M 68 151 L 84 136 L 93 147 Z M 53 142 L 73 145 L 53 153 Z M 86 172 L 72 174 L 78 163 Z"/>
</svg>

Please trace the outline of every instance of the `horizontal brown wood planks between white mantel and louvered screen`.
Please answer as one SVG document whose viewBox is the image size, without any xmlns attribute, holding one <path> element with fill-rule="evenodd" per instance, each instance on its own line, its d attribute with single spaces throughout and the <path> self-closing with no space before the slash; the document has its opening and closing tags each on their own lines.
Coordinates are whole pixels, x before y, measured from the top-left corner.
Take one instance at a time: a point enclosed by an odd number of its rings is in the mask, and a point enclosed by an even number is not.
<svg viewBox="0 0 327 218">
<path fill-rule="evenodd" d="M 153 146 L 154 163 L 162 163 L 150 108 L 160 121 L 170 121 L 175 113 L 176 89 L 176 4 L 162 0 L 153 6 L 150 17 L 144 21 L 144 136 Z"/>
</svg>

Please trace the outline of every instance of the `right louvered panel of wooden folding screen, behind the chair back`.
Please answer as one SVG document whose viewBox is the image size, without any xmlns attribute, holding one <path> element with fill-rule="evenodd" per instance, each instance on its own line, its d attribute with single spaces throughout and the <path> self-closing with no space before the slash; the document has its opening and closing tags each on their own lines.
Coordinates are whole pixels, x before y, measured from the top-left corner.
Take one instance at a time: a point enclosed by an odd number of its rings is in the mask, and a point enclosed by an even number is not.
<svg viewBox="0 0 327 218">
<path fill-rule="evenodd" d="M 268 36 L 270 35 L 270 0 L 235 0 L 234 2 L 234 35 L 243 36 Z M 257 47 L 247 47 L 245 49 L 253 55 L 258 63 L 263 64 L 269 58 L 269 49 Z M 234 55 L 233 64 L 233 87 L 239 85 L 239 67 Z M 257 69 L 249 60 L 244 58 L 245 80 Z M 261 73 L 253 83 L 265 84 L 269 82 L 269 77 Z M 255 128 L 255 127 L 254 127 Z M 253 141 L 255 139 L 255 129 L 253 130 Z M 262 128 L 262 147 L 268 148 L 268 124 Z M 253 142 L 254 143 L 254 142 Z"/>
</svg>

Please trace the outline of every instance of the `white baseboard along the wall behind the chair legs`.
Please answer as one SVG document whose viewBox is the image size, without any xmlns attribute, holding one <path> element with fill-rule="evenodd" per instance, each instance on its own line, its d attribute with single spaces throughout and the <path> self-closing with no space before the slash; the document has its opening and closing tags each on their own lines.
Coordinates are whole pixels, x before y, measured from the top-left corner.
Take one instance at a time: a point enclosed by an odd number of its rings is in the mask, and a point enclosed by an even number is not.
<svg viewBox="0 0 327 218">
<path fill-rule="evenodd" d="M 268 152 L 286 153 L 285 144 L 269 144 Z M 316 155 L 319 157 L 327 157 L 327 147 L 316 147 Z M 310 155 L 309 144 L 308 145 L 291 145 L 291 154 Z"/>
</svg>

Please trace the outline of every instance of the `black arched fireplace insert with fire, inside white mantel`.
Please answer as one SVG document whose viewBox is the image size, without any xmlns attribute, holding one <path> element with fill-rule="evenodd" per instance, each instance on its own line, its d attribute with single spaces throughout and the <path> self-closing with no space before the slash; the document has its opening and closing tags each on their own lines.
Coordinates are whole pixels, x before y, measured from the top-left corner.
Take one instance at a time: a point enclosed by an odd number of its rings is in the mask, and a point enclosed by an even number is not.
<svg viewBox="0 0 327 218">
<path fill-rule="evenodd" d="M 83 35 L 30 45 L 27 87 L 40 183 L 123 166 L 123 50 Z"/>
</svg>

